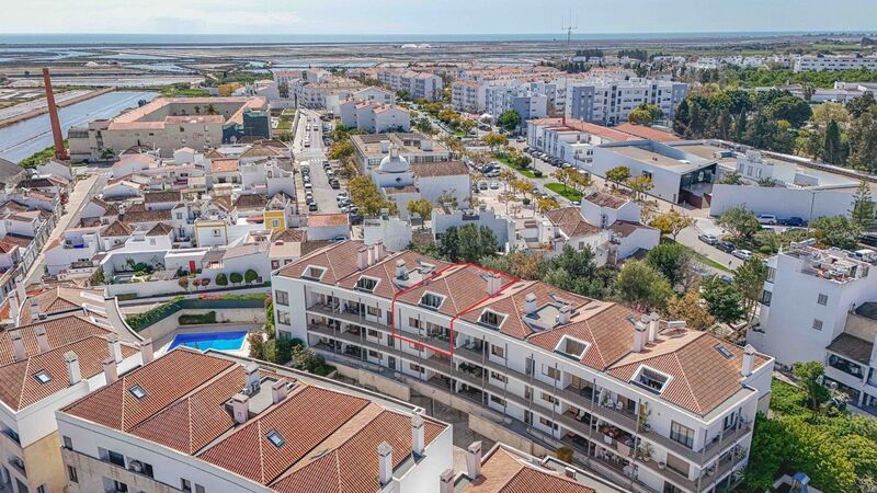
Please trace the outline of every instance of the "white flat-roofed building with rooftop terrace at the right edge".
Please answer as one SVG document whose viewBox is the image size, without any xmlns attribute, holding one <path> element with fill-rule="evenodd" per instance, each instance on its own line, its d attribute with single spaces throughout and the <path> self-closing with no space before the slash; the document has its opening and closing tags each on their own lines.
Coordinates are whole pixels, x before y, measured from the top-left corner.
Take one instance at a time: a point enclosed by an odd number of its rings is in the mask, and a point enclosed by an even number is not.
<svg viewBox="0 0 877 493">
<path fill-rule="evenodd" d="M 848 252 L 808 240 L 767 261 L 759 323 L 747 341 L 776 363 L 820 362 L 851 403 L 877 413 L 877 272 Z"/>
</svg>

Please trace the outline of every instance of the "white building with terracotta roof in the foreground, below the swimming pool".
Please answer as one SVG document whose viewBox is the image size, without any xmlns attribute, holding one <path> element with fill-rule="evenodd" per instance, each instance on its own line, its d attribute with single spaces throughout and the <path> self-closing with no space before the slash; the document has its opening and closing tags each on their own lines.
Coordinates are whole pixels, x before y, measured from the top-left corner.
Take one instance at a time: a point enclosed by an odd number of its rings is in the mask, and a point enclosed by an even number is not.
<svg viewBox="0 0 877 493">
<path fill-rule="evenodd" d="M 422 409 L 184 347 L 56 416 L 69 493 L 430 493 L 453 466 L 451 426 Z"/>
</svg>

